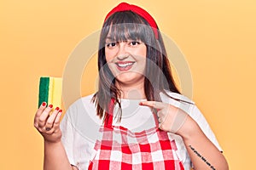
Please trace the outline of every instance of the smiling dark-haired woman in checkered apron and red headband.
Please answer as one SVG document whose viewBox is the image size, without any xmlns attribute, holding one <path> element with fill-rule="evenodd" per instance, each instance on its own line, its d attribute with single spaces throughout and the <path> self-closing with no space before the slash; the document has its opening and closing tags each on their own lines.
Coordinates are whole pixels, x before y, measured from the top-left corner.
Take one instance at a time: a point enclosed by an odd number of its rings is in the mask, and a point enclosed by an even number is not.
<svg viewBox="0 0 256 170">
<path fill-rule="evenodd" d="M 205 118 L 179 93 L 143 8 L 120 3 L 108 13 L 98 69 L 97 93 L 73 103 L 61 125 L 59 108 L 49 116 L 53 105 L 39 107 L 44 169 L 228 169 Z"/>
</svg>

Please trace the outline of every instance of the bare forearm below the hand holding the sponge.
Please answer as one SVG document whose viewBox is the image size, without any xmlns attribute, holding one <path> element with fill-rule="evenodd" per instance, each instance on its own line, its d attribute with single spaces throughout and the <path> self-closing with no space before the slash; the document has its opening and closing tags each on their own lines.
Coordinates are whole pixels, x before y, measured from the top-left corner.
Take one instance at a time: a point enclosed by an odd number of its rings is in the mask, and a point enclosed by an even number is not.
<svg viewBox="0 0 256 170">
<path fill-rule="evenodd" d="M 63 144 L 44 141 L 44 170 L 72 170 Z"/>
</svg>

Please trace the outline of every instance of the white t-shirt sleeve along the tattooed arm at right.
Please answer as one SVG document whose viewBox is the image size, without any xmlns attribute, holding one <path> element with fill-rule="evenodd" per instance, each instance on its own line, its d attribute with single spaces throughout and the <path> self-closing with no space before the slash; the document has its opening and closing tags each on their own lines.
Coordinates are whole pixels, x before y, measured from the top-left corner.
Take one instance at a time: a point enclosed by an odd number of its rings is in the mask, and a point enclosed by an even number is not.
<svg viewBox="0 0 256 170">
<path fill-rule="evenodd" d="M 218 140 L 216 139 L 214 133 L 212 132 L 212 129 L 209 126 L 206 118 L 203 116 L 203 114 L 196 105 L 194 105 L 194 107 L 192 108 L 189 116 L 191 116 L 195 120 L 195 122 L 197 122 L 199 127 L 201 127 L 203 133 L 205 133 L 207 138 L 211 140 L 212 144 L 214 144 L 219 151 L 223 151 L 220 145 L 218 144 Z"/>
</svg>

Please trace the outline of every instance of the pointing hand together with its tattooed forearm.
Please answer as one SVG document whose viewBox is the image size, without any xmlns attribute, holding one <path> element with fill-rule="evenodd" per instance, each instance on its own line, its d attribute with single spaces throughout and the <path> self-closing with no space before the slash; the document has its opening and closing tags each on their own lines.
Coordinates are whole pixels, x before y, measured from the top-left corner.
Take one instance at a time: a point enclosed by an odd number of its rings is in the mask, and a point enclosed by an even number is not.
<svg viewBox="0 0 256 170">
<path fill-rule="evenodd" d="M 149 106 L 157 110 L 160 129 L 176 133 L 183 138 L 189 157 L 196 169 L 212 169 L 212 167 L 229 169 L 223 154 L 201 131 L 194 119 L 185 112 L 187 110 L 183 111 L 178 105 L 174 106 L 157 101 L 143 101 L 140 105 Z M 197 154 L 195 154 L 195 149 Z M 198 153 L 200 153 L 200 156 Z"/>
</svg>

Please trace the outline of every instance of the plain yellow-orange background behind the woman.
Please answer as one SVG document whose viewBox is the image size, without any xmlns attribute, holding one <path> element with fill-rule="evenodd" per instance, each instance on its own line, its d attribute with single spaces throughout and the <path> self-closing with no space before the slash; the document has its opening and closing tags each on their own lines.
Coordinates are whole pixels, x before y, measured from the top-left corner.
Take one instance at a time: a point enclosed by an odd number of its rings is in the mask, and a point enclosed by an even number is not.
<svg viewBox="0 0 256 170">
<path fill-rule="evenodd" d="M 42 169 L 43 139 L 33 127 L 38 79 L 61 77 L 73 48 L 101 28 L 105 15 L 117 3 L 1 1 L 0 169 Z M 193 75 L 193 99 L 223 147 L 230 169 L 253 169 L 255 1 L 129 3 L 148 9 L 160 30 L 183 51 Z M 96 71 L 96 59 L 92 62 L 95 65 L 90 68 Z M 83 94 L 95 87 L 86 80 L 82 81 Z"/>
</svg>

